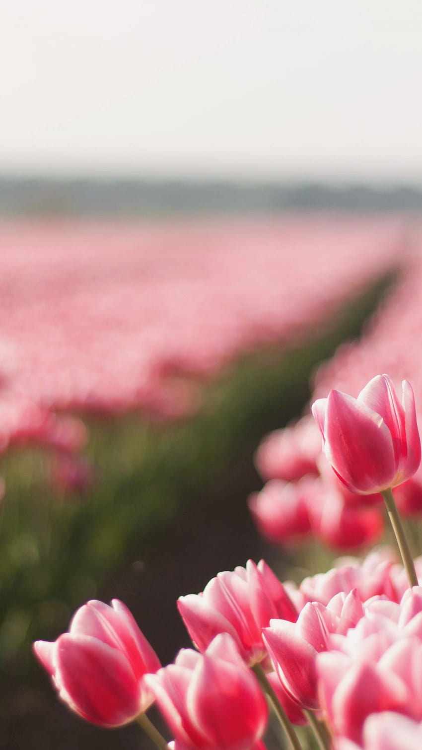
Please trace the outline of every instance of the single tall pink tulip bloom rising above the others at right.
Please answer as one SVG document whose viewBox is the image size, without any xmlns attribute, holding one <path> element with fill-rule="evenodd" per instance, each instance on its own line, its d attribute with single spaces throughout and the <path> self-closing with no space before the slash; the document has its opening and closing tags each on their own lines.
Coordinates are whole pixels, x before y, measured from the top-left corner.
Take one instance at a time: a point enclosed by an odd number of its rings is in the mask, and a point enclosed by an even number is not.
<svg viewBox="0 0 422 750">
<path fill-rule="evenodd" d="M 358 494 L 402 484 L 421 463 L 412 386 L 400 404 L 388 375 L 370 380 L 358 398 L 331 391 L 313 404 L 324 452 L 340 481 Z"/>
</svg>

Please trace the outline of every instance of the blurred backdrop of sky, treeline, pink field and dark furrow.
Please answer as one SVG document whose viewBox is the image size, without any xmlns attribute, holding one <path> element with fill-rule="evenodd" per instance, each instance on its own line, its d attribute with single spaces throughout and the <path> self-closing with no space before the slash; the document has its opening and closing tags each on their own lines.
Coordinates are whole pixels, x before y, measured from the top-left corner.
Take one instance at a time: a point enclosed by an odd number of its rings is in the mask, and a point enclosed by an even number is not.
<svg viewBox="0 0 422 750">
<path fill-rule="evenodd" d="M 316 383 L 422 397 L 422 7 L 1 16 L 0 747 L 140 748 L 61 706 L 31 640 L 118 597 L 172 660 L 178 595 L 309 569 L 247 509 L 265 434 Z"/>
</svg>

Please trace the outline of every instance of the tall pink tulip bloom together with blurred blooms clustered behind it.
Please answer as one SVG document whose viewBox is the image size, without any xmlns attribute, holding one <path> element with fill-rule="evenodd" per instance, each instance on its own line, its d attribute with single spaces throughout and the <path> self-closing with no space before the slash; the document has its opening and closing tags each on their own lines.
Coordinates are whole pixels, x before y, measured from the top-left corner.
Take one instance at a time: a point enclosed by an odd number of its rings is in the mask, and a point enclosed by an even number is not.
<svg viewBox="0 0 422 750">
<path fill-rule="evenodd" d="M 268 481 L 249 505 L 268 539 L 316 535 L 343 550 L 376 541 L 384 529 L 382 491 L 397 485 L 400 511 L 421 514 L 414 478 L 421 441 L 406 380 L 401 401 L 391 378 L 379 375 L 356 399 L 332 390 L 315 401 L 313 415 L 316 424 L 304 417 L 259 446 L 256 463 Z"/>
</svg>

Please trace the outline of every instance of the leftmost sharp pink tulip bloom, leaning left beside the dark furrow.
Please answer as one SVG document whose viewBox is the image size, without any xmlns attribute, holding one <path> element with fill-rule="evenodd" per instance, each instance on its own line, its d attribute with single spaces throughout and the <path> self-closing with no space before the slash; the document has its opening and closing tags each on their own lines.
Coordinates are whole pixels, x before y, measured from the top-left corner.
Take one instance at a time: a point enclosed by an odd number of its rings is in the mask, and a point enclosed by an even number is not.
<svg viewBox="0 0 422 750">
<path fill-rule="evenodd" d="M 142 678 L 156 672 L 160 661 L 118 599 L 111 607 L 88 601 L 74 614 L 68 633 L 52 643 L 37 640 L 34 652 L 61 699 L 94 724 L 127 724 L 152 703 Z"/>
</svg>

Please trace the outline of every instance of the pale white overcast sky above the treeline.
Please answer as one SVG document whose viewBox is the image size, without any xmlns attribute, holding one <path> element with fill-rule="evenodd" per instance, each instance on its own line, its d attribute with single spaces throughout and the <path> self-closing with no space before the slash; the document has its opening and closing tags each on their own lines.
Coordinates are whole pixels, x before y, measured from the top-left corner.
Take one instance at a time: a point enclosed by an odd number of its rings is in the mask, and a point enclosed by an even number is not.
<svg viewBox="0 0 422 750">
<path fill-rule="evenodd" d="M 421 0 L 0 0 L 0 170 L 422 183 Z"/>
</svg>

